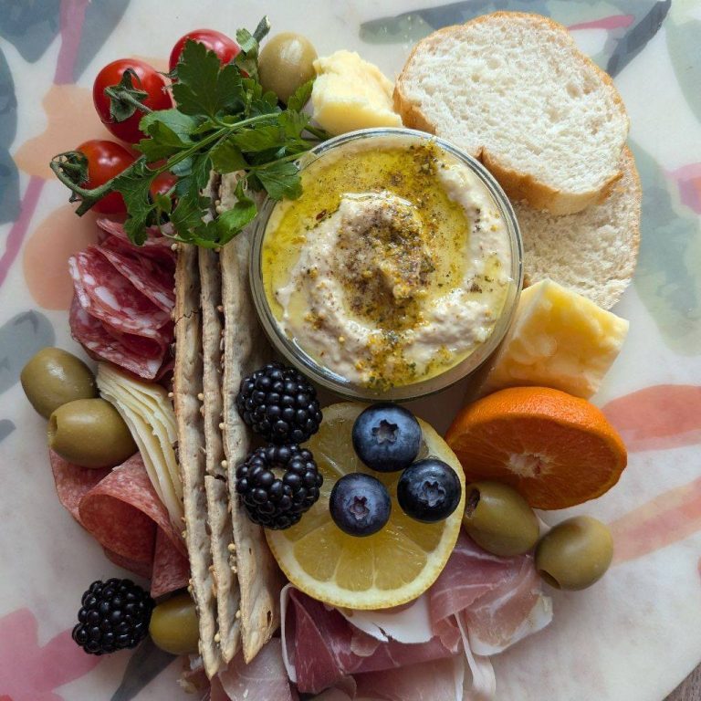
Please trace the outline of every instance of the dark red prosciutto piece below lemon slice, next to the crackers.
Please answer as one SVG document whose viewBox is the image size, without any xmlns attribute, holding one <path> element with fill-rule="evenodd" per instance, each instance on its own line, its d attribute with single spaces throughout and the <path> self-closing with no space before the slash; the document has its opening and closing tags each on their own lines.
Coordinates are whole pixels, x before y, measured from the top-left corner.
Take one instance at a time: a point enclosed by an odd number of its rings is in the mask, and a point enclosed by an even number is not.
<svg viewBox="0 0 701 701">
<path fill-rule="evenodd" d="M 452 656 L 434 636 L 426 643 L 382 642 L 301 591 L 286 592 L 283 641 L 300 692 L 318 694 L 346 675 L 393 669 Z M 289 670 L 288 670 L 289 671 Z"/>
</svg>

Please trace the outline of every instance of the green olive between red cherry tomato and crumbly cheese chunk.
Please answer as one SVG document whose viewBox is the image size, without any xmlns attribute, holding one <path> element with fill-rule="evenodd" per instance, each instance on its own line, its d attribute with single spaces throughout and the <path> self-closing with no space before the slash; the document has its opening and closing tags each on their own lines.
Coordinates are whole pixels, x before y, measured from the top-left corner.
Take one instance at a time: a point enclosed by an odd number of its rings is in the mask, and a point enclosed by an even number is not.
<svg viewBox="0 0 701 701">
<path fill-rule="evenodd" d="M 287 103 L 289 96 L 314 78 L 317 51 L 307 37 L 283 32 L 267 41 L 258 57 L 258 77 L 265 90 L 272 90 Z"/>
</svg>

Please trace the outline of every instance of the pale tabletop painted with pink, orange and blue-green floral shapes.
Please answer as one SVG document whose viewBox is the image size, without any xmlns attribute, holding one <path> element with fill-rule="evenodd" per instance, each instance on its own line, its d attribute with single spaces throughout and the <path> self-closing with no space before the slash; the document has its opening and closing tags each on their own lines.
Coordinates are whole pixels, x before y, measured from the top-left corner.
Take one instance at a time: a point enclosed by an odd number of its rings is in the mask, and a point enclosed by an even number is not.
<svg viewBox="0 0 701 701">
<path fill-rule="evenodd" d="M 168 9 L 166 9 L 166 7 Z M 58 504 L 45 422 L 19 371 L 68 334 L 68 256 L 95 237 L 47 162 L 109 135 L 90 99 L 105 63 L 159 68 L 198 26 L 233 34 L 263 12 L 319 54 L 358 50 L 394 77 L 413 42 L 495 9 L 553 16 L 614 77 L 643 182 L 631 319 L 597 397 L 622 432 L 620 484 L 586 507 L 612 525 L 617 559 L 596 587 L 554 594 L 555 622 L 495 658 L 499 699 L 660 701 L 701 660 L 701 3 L 675 0 L 0 0 L 0 701 L 180 699 L 179 663 L 144 644 L 82 654 L 69 631 L 90 581 L 119 573 Z M 424 413 L 445 415 L 438 396 Z"/>
</svg>

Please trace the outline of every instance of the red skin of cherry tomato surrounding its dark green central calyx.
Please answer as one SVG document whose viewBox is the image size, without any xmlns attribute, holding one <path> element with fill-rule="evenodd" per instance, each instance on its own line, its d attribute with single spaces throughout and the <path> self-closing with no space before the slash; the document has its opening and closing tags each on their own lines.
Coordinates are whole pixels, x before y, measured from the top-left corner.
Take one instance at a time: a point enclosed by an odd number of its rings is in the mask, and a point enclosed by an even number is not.
<svg viewBox="0 0 701 701">
<path fill-rule="evenodd" d="M 173 99 L 170 92 L 165 89 L 167 86 L 165 78 L 155 68 L 138 58 L 120 58 L 99 71 L 92 85 L 92 101 L 95 103 L 95 109 L 98 110 L 99 119 L 118 139 L 136 143 L 144 138 L 139 131 L 139 121 L 144 112 L 136 110 L 128 120 L 113 121 L 110 117 L 110 98 L 105 95 L 105 88 L 117 85 L 127 68 L 131 68 L 141 80 L 140 84 L 135 79 L 134 87 L 148 93 L 143 100 L 146 107 L 152 110 L 168 110 L 173 107 Z"/>
</svg>

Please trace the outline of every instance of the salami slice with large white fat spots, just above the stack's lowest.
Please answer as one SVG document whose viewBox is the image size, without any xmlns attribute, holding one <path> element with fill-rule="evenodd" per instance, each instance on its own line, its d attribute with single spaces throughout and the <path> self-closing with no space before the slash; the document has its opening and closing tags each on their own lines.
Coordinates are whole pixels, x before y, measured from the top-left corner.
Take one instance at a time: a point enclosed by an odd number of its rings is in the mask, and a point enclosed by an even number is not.
<svg viewBox="0 0 701 701">
<path fill-rule="evenodd" d="M 168 323 L 170 314 L 142 295 L 129 278 L 115 274 L 99 248 L 89 246 L 74 260 L 71 273 L 75 270 L 83 290 L 82 294 L 78 292 L 78 298 L 92 316 L 125 333 L 159 338 L 159 329 Z M 77 278 L 73 279 L 75 282 Z M 83 296 L 89 298 L 88 305 Z"/>
</svg>

